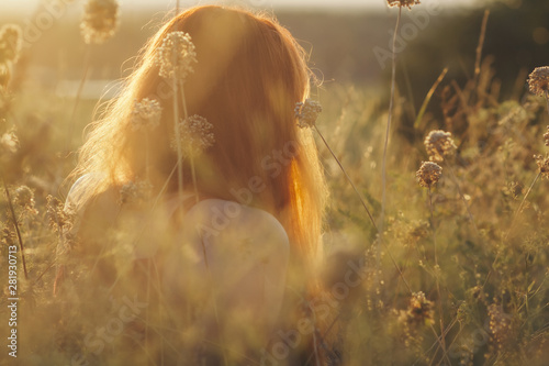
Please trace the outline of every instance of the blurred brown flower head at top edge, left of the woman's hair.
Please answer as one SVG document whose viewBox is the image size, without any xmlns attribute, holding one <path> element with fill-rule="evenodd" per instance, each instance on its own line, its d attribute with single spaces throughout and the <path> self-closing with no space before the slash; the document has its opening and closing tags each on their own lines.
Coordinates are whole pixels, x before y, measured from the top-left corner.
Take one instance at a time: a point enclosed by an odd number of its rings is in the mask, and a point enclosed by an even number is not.
<svg viewBox="0 0 549 366">
<path fill-rule="evenodd" d="M 87 44 L 102 44 L 112 37 L 119 26 L 116 0 L 89 0 L 86 4 L 80 31 Z"/>
</svg>

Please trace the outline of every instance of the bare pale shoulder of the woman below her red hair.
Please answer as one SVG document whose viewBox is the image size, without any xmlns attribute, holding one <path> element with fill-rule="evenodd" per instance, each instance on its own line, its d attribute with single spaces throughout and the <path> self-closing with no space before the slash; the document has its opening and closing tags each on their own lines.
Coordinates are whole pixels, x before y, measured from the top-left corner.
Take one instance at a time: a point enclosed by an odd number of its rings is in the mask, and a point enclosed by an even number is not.
<svg viewBox="0 0 549 366">
<path fill-rule="evenodd" d="M 289 245 L 282 224 L 267 211 L 221 199 L 206 199 L 193 206 L 184 218 L 184 225 L 202 239 L 227 237 L 237 234 Z"/>
</svg>

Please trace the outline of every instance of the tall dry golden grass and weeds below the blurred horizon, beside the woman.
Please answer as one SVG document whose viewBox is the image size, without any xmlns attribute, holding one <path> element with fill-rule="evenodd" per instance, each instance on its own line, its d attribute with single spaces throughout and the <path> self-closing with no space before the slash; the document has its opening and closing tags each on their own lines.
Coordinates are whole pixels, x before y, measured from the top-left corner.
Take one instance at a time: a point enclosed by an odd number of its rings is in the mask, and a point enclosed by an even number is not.
<svg viewBox="0 0 549 366">
<path fill-rule="evenodd" d="M 482 43 L 483 37 L 479 49 Z M 519 99 L 502 100 L 495 82 L 490 56 L 483 58 L 478 51 L 473 77 L 458 84 L 446 79 L 446 70 L 442 71 L 412 126 L 403 125 L 403 111 L 411 101 L 394 103 L 388 111 L 380 102 L 383 96 L 372 96 L 366 88 L 326 88 L 323 131 L 338 152 L 334 163 L 335 154 L 323 147 L 324 136 L 318 137 L 332 191 L 326 248 L 334 253 L 333 260 L 344 253 L 363 262 L 360 285 L 352 291 L 348 286 L 349 292 L 339 298 L 334 287 L 328 288 L 334 298 L 327 303 L 341 324 L 337 328 L 338 358 L 344 365 L 540 366 L 549 358 L 549 198 L 545 193 L 548 182 L 547 174 L 533 158 L 547 152 L 542 138 L 548 124 L 547 101 L 526 90 Z M 90 291 L 78 302 L 79 307 L 70 307 L 71 295 L 52 296 L 55 253 L 63 229 L 59 220 L 69 219 L 58 212 L 58 204 L 48 197 L 64 196 L 59 185 L 74 162 L 71 156 L 59 153 L 66 141 L 71 142 L 71 148 L 77 147 L 72 142 L 81 126 L 68 130 L 67 124 L 61 124 L 75 119 L 67 115 L 67 102 L 56 96 L 24 86 L 15 89 L 9 84 L 1 88 L 0 120 L 5 122 L 0 123 L 0 168 L 5 193 L 0 198 L 0 254 L 5 260 L 8 247 L 20 245 L 19 255 L 22 260 L 24 256 L 25 267 L 25 276 L 20 275 L 19 279 L 19 361 L 25 365 L 82 364 L 83 359 L 112 365 L 173 365 L 176 361 L 170 355 L 177 354 L 183 364 L 199 364 L 191 353 L 206 337 L 204 329 L 215 326 L 183 329 L 181 323 L 165 321 L 170 315 L 168 307 L 163 307 L 168 301 L 167 293 L 158 280 L 163 268 L 155 263 L 139 262 L 147 274 L 141 282 L 144 288 L 135 288 L 131 280 L 121 278 L 116 287 L 120 292 L 99 289 L 104 293 L 97 297 L 97 291 Z M 11 90 L 20 91 L 9 98 Z M 394 92 L 400 95 L 397 79 Z M 35 100 L 42 102 L 36 104 Z M 78 115 L 91 114 L 91 106 L 82 103 Z M 388 141 L 388 120 L 395 132 L 391 144 L 383 144 Z M 19 140 L 16 149 L 9 145 L 12 129 Z M 400 133 L 410 129 L 411 133 Z M 452 133 L 458 149 L 442 164 L 438 184 L 425 190 L 417 185 L 415 171 L 428 159 L 424 136 L 438 129 Z M 67 136 L 67 131 L 75 135 Z M 345 166 L 345 175 L 338 164 Z M 351 179 L 356 187 L 348 184 Z M 11 195 L 22 186 L 33 191 L 32 207 Z M 356 199 L 356 191 L 363 200 Z M 380 233 L 363 214 L 366 204 L 372 212 L 383 212 Z M 121 208 L 121 215 L 126 209 L 131 208 Z M 57 223 L 54 220 L 52 224 L 52 215 Z M 139 219 L 163 228 L 165 218 L 159 218 Z M 125 223 L 130 228 L 135 224 Z M 383 243 L 379 249 L 373 247 L 377 234 Z M 131 273 L 125 251 L 130 244 L 149 240 L 141 236 L 146 236 L 145 230 L 137 234 L 122 229 L 105 233 L 93 271 L 108 256 L 119 270 Z M 161 243 L 166 237 L 150 241 Z M 358 255 L 356 247 L 360 248 Z M 81 274 L 78 264 L 75 268 L 68 275 L 77 280 Z M 337 268 L 343 278 L 348 268 L 345 264 Z M 191 270 L 181 270 L 192 278 Z M 0 282 L 8 284 L 5 270 L 0 274 Z M 345 279 L 335 284 L 346 285 Z M 199 299 L 205 296 L 200 288 L 189 291 L 194 291 Z M 109 333 L 112 341 L 103 340 L 104 350 L 93 354 L 86 337 L 117 319 L 112 317 L 125 301 L 123 293 L 143 295 L 148 299 L 147 307 L 137 307 L 136 320 L 124 322 L 116 336 Z M 160 300 L 155 303 L 152 299 Z M 170 301 L 177 302 L 177 296 Z M 2 298 L 0 332 L 4 332 L 9 318 L 7 304 Z M 100 311 L 103 309 L 111 312 L 105 314 Z M 181 311 L 192 318 L 189 309 Z M 239 324 L 240 319 L 246 317 L 235 314 L 229 321 Z M 144 339 L 134 336 L 143 334 L 142 323 L 146 324 Z M 247 350 L 257 341 L 250 331 L 253 325 L 242 324 L 238 334 L 247 345 L 232 342 L 234 347 L 223 348 L 223 358 L 255 364 L 255 359 L 248 359 L 251 357 Z M 181 341 L 190 346 L 178 350 Z M 212 341 L 208 346 L 222 345 Z M 202 361 L 220 362 L 204 357 Z"/>
</svg>

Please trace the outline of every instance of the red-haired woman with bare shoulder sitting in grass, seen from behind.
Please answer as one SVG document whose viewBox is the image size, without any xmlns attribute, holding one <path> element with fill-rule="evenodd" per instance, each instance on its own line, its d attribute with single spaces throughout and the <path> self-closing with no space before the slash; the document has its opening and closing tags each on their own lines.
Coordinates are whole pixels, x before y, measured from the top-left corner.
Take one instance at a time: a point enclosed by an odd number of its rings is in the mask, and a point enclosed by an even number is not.
<svg viewBox="0 0 549 366">
<path fill-rule="evenodd" d="M 86 268 L 87 290 L 147 299 L 149 318 L 132 326 L 147 345 L 160 329 L 153 314 L 184 329 L 182 364 L 324 359 L 332 314 L 304 306 L 321 292 L 326 199 L 311 131 L 295 118 L 309 84 L 303 49 L 267 16 L 198 7 L 165 24 L 80 151 L 56 290 L 69 268 Z M 193 141 L 208 143 L 193 153 Z M 303 319 L 311 331 L 295 331 Z"/>
</svg>

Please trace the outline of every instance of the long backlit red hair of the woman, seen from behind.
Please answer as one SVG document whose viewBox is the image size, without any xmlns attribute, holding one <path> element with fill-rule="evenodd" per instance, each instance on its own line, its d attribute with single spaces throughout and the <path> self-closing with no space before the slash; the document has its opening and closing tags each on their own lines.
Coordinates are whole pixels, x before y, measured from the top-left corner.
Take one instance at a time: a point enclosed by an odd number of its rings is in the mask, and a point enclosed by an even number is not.
<svg viewBox="0 0 549 366">
<path fill-rule="evenodd" d="M 194 73 L 182 90 L 188 113 L 206 118 L 215 136 L 194 162 L 201 195 L 272 213 L 287 230 L 298 262 L 311 265 L 320 249 L 326 188 L 311 131 L 298 127 L 294 115 L 295 103 L 309 96 L 311 73 L 303 48 L 266 15 L 206 5 L 167 22 L 144 46 L 124 90 L 80 149 L 74 174 L 104 177 L 83 187 L 82 199 L 143 178 L 145 162 L 155 187 L 168 181 L 177 164 L 170 148 L 173 89 L 158 75 L 156 57 L 175 31 L 189 33 L 197 52 Z M 143 98 L 163 107 L 160 126 L 147 134 L 134 132 L 130 123 L 134 101 Z M 181 98 L 177 103 L 182 111 Z M 190 187 L 188 162 L 183 171 Z M 177 190 L 173 177 L 171 192 Z"/>
</svg>

